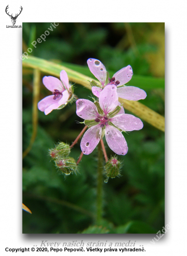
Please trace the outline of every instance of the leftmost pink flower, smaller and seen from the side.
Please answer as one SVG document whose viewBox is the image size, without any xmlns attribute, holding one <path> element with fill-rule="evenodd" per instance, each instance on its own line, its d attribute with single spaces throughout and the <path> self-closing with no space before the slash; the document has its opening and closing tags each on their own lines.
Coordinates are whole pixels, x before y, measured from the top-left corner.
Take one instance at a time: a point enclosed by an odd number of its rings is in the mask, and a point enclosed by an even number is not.
<svg viewBox="0 0 187 256">
<path fill-rule="evenodd" d="M 69 85 L 65 70 L 60 72 L 60 80 L 53 76 L 43 78 L 43 84 L 52 92 L 52 95 L 45 97 L 38 103 L 39 110 L 43 111 L 45 115 L 48 115 L 53 109 L 66 105 L 72 96 L 71 85 Z"/>
</svg>

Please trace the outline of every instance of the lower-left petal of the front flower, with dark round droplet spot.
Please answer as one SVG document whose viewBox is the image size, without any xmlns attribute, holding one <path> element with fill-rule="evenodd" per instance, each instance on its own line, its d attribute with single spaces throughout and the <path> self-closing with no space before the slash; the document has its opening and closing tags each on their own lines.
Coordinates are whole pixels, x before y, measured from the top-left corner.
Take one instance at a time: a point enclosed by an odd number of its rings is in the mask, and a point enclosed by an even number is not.
<svg viewBox="0 0 187 256">
<path fill-rule="evenodd" d="M 99 125 L 92 126 L 85 133 L 81 140 L 81 150 L 84 155 L 89 155 L 97 146 L 101 138 L 102 128 Z"/>
</svg>

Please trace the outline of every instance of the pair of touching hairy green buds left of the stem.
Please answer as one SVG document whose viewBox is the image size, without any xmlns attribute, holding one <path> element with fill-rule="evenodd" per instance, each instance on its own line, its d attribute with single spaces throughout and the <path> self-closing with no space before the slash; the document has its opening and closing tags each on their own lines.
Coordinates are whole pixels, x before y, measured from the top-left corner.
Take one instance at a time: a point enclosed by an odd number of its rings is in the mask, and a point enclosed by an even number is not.
<svg viewBox="0 0 187 256">
<path fill-rule="evenodd" d="M 59 142 L 55 148 L 49 149 L 49 155 L 55 162 L 55 166 L 64 175 L 70 175 L 71 173 L 76 173 L 77 164 L 73 157 L 70 157 L 71 148 L 70 145 Z"/>
</svg>

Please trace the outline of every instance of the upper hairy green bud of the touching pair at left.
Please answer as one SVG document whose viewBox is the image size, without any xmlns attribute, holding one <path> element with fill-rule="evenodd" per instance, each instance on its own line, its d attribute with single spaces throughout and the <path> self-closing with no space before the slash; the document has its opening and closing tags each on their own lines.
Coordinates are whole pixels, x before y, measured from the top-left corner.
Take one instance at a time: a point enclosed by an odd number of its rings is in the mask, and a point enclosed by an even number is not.
<svg viewBox="0 0 187 256">
<path fill-rule="evenodd" d="M 65 157 L 70 154 L 70 151 L 70 145 L 64 142 L 59 142 L 55 148 L 49 149 L 49 155 L 51 155 L 52 158 Z"/>
</svg>

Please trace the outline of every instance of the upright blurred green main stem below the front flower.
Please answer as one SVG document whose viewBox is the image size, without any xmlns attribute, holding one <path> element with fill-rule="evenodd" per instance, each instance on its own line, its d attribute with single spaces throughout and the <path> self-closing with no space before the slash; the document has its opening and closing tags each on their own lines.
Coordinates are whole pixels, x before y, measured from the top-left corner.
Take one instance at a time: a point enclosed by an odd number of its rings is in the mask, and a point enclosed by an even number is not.
<svg viewBox="0 0 187 256">
<path fill-rule="evenodd" d="M 98 166 L 97 166 L 97 225 L 101 224 L 103 214 L 103 151 L 101 143 L 98 144 Z"/>
</svg>

